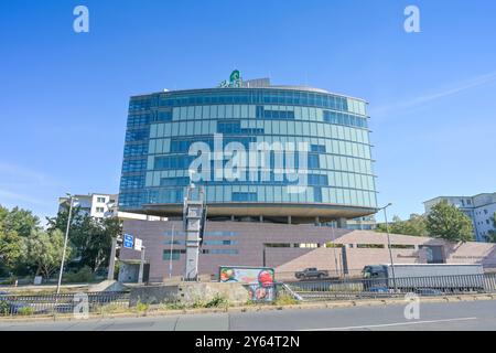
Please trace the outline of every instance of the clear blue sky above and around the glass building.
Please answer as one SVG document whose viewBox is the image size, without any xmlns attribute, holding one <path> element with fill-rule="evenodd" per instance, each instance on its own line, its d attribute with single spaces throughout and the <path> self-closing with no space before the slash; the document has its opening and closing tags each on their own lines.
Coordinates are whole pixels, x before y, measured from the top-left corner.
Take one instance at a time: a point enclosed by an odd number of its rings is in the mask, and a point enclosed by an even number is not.
<svg viewBox="0 0 496 353">
<path fill-rule="evenodd" d="M 367 99 L 391 214 L 495 192 L 495 18 L 493 0 L 1 1 L 0 204 L 45 216 L 67 191 L 118 192 L 129 96 L 234 68 Z"/>
</svg>

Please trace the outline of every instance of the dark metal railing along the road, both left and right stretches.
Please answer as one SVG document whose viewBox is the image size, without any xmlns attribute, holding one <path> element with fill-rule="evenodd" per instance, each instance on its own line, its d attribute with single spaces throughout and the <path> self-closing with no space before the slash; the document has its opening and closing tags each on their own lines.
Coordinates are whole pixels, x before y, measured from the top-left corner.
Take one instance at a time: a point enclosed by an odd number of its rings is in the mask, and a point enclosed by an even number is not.
<svg viewBox="0 0 496 353">
<path fill-rule="evenodd" d="M 296 300 L 359 300 L 366 298 L 402 298 L 407 292 L 420 296 L 446 296 L 459 293 L 496 293 L 496 274 L 460 275 L 410 278 L 346 278 L 339 280 L 278 281 L 271 286 L 247 285 L 250 298 L 257 302 L 272 302 L 287 295 Z M 78 296 L 78 297 L 76 297 Z M 107 309 L 129 308 L 129 292 L 89 292 L 88 312 L 105 312 Z M 0 317 L 40 315 L 77 312 L 80 295 L 0 295 Z M 177 298 L 163 296 L 161 301 L 173 302 Z"/>
</svg>

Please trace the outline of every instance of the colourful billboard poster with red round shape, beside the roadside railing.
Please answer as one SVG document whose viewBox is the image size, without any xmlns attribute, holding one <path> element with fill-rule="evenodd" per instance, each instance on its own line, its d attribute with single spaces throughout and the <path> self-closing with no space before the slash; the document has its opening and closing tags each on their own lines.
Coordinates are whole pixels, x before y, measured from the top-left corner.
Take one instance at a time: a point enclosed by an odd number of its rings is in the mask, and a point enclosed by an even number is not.
<svg viewBox="0 0 496 353">
<path fill-rule="evenodd" d="M 267 267 L 220 266 L 220 282 L 248 285 L 251 300 L 272 301 L 276 299 L 274 270 Z"/>
</svg>

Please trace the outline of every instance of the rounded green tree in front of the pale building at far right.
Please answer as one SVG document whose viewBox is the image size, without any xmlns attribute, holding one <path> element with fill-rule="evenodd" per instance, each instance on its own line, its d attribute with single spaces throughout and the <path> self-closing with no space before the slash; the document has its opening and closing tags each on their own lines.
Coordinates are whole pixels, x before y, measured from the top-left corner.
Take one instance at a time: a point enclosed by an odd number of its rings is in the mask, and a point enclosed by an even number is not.
<svg viewBox="0 0 496 353">
<path fill-rule="evenodd" d="M 427 229 L 433 237 L 450 242 L 474 239 L 472 220 L 446 201 L 435 204 L 427 217 Z"/>
</svg>

